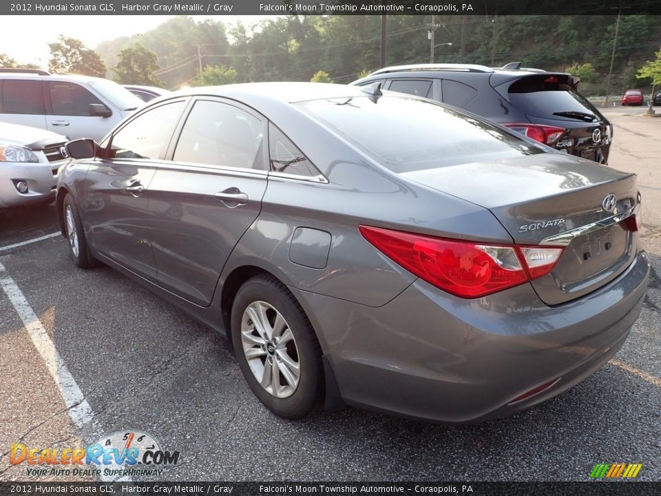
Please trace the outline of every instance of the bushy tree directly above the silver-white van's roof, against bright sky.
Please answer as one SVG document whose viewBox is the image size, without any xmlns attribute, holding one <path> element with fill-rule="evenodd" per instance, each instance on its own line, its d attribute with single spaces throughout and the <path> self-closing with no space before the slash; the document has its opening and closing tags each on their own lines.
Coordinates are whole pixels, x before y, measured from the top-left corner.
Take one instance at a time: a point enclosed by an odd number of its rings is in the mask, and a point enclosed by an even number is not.
<svg viewBox="0 0 661 496">
<path fill-rule="evenodd" d="M 105 63 L 94 50 L 87 48 L 80 40 L 67 38 L 61 34 L 57 39 L 55 43 L 48 43 L 50 72 L 105 77 Z"/>
</svg>

